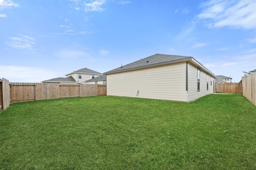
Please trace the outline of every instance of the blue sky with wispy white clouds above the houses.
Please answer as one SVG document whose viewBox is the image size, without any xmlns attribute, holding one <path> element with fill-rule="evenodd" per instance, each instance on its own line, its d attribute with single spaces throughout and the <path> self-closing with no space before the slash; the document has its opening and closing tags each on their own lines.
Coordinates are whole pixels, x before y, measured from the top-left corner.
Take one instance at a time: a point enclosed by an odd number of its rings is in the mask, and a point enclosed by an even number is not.
<svg viewBox="0 0 256 170">
<path fill-rule="evenodd" d="M 256 69 L 256 0 L 0 0 L 0 78 L 41 82 L 160 54 L 239 82 Z"/>
</svg>

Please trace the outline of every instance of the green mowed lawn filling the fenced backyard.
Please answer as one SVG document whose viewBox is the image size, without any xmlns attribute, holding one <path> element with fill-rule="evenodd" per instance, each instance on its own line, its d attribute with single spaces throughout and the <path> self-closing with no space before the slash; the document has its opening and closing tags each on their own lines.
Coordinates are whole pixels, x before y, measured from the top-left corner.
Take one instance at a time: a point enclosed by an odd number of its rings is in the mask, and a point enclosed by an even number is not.
<svg viewBox="0 0 256 170">
<path fill-rule="evenodd" d="M 0 169 L 256 169 L 256 107 L 239 94 L 12 104 Z"/>
</svg>

